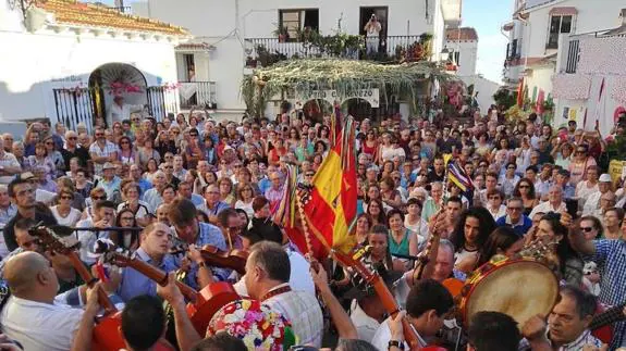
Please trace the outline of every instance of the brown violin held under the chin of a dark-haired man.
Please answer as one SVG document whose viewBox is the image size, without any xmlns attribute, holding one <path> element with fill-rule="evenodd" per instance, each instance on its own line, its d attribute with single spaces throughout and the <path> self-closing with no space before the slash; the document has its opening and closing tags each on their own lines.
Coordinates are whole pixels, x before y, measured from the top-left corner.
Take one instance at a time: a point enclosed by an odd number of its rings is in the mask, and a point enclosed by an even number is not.
<svg viewBox="0 0 626 351">
<path fill-rule="evenodd" d="M 180 238 L 172 238 L 174 242 L 170 254 L 181 254 L 189 249 L 189 245 Z M 212 245 L 206 245 L 200 249 L 202 260 L 207 265 L 230 268 L 236 273 L 244 275 L 246 273 L 246 262 L 248 261 L 248 251 L 245 250 L 229 250 L 222 251 Z"/>
</svg>

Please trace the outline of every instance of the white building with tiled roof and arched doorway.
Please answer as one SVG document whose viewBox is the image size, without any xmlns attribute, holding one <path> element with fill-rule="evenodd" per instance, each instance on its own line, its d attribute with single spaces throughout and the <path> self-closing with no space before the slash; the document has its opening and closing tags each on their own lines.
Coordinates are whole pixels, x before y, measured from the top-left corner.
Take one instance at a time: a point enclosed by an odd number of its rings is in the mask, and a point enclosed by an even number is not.
<svg viewBox="0 0 626 351">
<path fill-rule="evenodd" d="M 157 118 L 179 110 L 174 46 L 185 29 L 74 0 L 37 1 L 25 13 L 19 3 L 0 1 L 4 120 L 90 127 L 114 95 Z"/>
</svg>

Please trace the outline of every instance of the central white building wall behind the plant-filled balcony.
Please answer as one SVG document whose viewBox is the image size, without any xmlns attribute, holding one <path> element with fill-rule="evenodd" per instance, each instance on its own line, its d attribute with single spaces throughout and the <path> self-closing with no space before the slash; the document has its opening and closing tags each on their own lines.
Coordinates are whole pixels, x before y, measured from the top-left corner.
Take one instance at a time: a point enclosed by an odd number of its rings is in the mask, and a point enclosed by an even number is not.
<svg viewBox="0 0 626 351">
<path fill-rule="evenodd" d="M 133 12 L 188 28 L 196 36 L 195 47 L 186 45 L 177 49 L 179 80 L 204 82 L 212 89 L 208 96 L 214 100 L 208 102 L 216 103 L 214 114 L 240 118 L 245 111 L 240 85 L 243 75 L 250 73 L 245 67 L 246 58 L 255 54 L 258 45 L 287 57 L 302 54 L 303 47 L 295 41 L 297 29 L 317 29 L 322 35 L 336 30 L 358 35 L 365 33 L 365 24 L 376 14 L 381 23 L 380 50 L 392 53 L 397 46 L 406 47 L 428 33 L 433 35 L 431 59 L 440 60 L 445 27 L 457 26 L 461 22 L 461 2 L 148 0 L 133 3 Z M 274 34 L 279 26 L 286 27 L 290 34 L 291 39 L 286 42 L 280 42 Z M 204 90 L 196 88 L 196 91 Z M 198 104 L 207 101 L 200 102 Z"/>
</svg>

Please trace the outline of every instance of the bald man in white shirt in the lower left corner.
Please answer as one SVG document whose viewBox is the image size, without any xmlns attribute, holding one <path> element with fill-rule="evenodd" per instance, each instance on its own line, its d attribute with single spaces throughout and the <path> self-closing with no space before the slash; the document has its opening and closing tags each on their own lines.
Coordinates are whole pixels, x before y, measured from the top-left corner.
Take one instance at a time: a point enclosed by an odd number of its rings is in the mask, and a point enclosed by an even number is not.
<svg viewBox="0 0 626 351">
<path fill-rule="evenodd" d="M 99 284 L 88 290 L 85 310 L 54 301 L 59 280 L 49 261 L 37 252 L 23 252 L 7 262 L 4 278 L 11 290 L 0 312 L 2 333 L 24 350 L 88 350 L 91 344 Z"/>
</svg>

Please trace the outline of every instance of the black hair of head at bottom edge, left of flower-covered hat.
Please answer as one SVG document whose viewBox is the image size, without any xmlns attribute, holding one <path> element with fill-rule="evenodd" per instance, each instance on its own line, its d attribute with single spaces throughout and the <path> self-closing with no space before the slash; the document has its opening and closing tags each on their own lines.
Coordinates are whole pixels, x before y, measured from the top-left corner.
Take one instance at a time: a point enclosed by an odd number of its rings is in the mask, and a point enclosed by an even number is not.
<svg viewBox="0 0 626 351">
<path fill-rule="evenodd" d="M 133 350 L 148 350 L 165 330 L 161 300 L 142 294 L 126 302 L 122 311 L 122 335 Z"/>
</svg>

